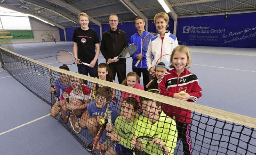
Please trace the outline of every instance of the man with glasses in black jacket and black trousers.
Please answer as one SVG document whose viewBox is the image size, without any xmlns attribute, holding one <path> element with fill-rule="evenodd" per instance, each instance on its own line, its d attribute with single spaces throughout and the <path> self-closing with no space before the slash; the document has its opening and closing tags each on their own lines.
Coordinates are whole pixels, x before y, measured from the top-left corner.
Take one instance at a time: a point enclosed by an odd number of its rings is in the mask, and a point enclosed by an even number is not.
<svg viewBox="0 0 256 155">
<path fill-rule="evenodd" d="M 109 63 L 114 80 L 117 74 L 118 82 L 121 84 L 126 78 L 126 59 L 115 59 L 128 45 L 126 33 L 117 28 L 118 17 L 112 14 L 109 17 L 110 29 L 103 33 L 100 51 L 106 62 Z"/>
</svg>

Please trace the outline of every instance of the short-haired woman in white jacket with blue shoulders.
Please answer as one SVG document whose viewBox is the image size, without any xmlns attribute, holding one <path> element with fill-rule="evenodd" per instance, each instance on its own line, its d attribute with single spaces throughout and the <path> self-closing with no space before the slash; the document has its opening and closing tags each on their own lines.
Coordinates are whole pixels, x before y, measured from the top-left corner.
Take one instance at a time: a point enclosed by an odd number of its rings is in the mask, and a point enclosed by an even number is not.
<svg viewBox="0 0 256 155">
<path fill-rule="evenodd" d="M 160 12 L 154 17 L 154 24 L 158 30 L 158 34 L 151 39 L 148 45 L 146 54 L 148 71 L 154 77 L 156 75 L 155 66 L 159 57 L 165 54 L 172 54 L 172 51 L 177 47 L 178 40 L 166 28 L 169 26 L 169 16 L 165 12 Z M 170 61 L 170 60 L 167 60 Z M 152 76 L 150 76 L 152 78 Z"/>
</svg>

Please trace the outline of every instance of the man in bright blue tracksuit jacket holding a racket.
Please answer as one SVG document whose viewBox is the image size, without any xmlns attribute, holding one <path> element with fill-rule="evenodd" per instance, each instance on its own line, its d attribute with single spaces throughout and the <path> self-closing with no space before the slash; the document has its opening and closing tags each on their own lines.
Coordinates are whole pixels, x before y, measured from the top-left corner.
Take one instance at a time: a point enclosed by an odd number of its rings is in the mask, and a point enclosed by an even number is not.
<svg viewBox="0 0 256 155">
<path fill-rule="evenodd" d="M 148 66 L 146 62 L 147 51 L 144 51 L 142 48 L 142 40 L 149 32 L 145 30 L 144 26 L 145 21 L 142 17 L 135 19 L 135 27 L 138 29 L 138 32 L 132 35 L 129 44 L 135 43 L 138 46 L 138 50 L 132 56 L 132 71 L 136 72 L 139 77 L 141 77 L 142 73 L 144 90 L 147 90 L 146 85 L 149 82 L 149 72 L 147 70 Z M 136 67 L 135 64 L 138 61 L 140 61 L 140 63 L 138 63 L 138 66 Z"/>
</svg>

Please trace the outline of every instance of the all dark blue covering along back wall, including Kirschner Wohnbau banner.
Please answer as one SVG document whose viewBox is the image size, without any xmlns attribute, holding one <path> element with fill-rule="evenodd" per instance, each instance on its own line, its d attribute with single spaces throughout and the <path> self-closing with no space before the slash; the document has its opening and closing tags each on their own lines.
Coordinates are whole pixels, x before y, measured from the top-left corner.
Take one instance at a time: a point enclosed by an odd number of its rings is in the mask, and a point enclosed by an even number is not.
<svg viewBox="0 0 256 155">
<path fill-rule="evenodd" d="M 218 47 L 249 47 L 256 48 L 256 13 L 178 18 L 177 39 L 180 45 L 218 46 Z M 90 25 L 100 39 L 100 27 Z M 67 41 L 72 41 L 74 29 L 67 27 Z M 134 22 L 119 22 L 118 28 L 126 32 L 128 42 L 136 33 Z M 110 29 L 109 24 L 102 24 L 102 33 Z M 170 18 L 170 33 L 173 33 L 174 20 Z M 148 21 L 148 31 L 157 33 L 153 20 Z M 60 29 L 60 39 L 64 41 L 63 29 Z"/>
</svg>

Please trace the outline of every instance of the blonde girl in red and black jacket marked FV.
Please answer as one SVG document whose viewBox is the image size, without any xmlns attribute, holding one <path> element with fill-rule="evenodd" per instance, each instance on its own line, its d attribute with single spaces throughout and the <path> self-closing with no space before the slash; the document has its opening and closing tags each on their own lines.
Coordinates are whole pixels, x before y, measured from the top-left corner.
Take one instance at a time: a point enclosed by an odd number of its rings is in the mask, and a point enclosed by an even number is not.
<svg viewBox="0 0 256 155">
<path fill-rule="evenodd" d="M 198 84 L 198 78 L 187 70 L 191 64 L 191 56 L 188 47 L 177 46 L 172 51 L 170 71 L 164 73 L 160 80 L 159 94 L 177 98 L 188 102 L 196 102 L 202 96 L 202 88 Z M 193 151 L 190 137 L 191 110 L 183 109 L 169 104 L 162 105 L 167 116 L 176 118 L 178 137 L 183 143 L 185 155 L 191 155 Z"/>
</svg>

